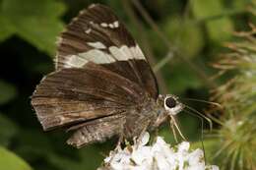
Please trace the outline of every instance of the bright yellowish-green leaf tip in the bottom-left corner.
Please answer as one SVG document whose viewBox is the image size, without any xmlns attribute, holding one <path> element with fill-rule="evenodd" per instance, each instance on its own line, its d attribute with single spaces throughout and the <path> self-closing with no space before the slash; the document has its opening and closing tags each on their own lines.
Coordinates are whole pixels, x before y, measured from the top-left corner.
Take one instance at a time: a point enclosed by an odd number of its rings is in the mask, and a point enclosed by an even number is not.
<svg viewBox="0 0 256 170">
<path fill-rule="evenodd" d="M 15 153 L 0 146 L 0 169 L 32 170 L 32 167 Z"/>
</svg>

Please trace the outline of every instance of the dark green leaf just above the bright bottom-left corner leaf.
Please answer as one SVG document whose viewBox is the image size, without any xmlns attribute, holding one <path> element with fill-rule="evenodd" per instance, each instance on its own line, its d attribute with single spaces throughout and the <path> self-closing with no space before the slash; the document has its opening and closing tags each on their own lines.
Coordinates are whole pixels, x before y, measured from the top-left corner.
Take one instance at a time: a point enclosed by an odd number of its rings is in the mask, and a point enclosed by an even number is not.
<svg viewBox="0 0 256 170">
<path fill-rule="evenodd" d="M 14 122 L 0 113 L 0 144 L 7 146 L 11 140 L 17 134 L 18 128 Z"/>
</svg>

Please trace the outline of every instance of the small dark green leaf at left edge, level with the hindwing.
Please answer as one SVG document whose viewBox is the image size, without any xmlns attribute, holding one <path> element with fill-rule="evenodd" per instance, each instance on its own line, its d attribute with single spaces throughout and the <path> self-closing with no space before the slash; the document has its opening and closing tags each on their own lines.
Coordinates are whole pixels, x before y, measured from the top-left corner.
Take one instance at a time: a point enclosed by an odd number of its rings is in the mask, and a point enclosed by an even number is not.
<svg viewBox="0 0 256 170">
<path fill-rule="evenodd" d="M 14 85 L 0 80 L 0 105 L 8 103 L 17 95 L 17 90 Z"/>
</svg>

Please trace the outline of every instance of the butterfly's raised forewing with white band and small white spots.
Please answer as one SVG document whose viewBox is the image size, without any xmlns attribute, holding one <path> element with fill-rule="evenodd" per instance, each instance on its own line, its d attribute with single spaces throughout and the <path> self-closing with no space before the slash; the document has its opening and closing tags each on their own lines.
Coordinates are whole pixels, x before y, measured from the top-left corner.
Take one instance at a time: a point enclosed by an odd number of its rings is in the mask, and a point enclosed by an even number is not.
<svg viewBox="0 0 256 170">
<path fill-rule="evenodd" d="M 99 64 L 142 86 L 157 99 L 158 85 L 152 69 L 131 34 L 103 5 L 83 10 L 61 34 L 56 69 Z"/>
</svg>

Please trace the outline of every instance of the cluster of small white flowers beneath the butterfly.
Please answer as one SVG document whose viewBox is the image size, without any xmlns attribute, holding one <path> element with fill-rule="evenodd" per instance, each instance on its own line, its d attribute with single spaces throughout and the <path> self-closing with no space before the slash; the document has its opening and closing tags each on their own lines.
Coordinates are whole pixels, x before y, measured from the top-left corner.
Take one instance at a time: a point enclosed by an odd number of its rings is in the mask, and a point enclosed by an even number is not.
<svg viewBox="0 0 256 170">
<path fill-rule="evenodd" d="M 219 170 L 218 166 L 205 165 L 201 149 L 190 152 L 189 142 L 170 147 L 158 137 L 153 145 L 146 145 L 149 139 L 146 133 L 140 143 L 111 151 L 104 159 L 105 166 L 98 170 Z"/>
</svg>

